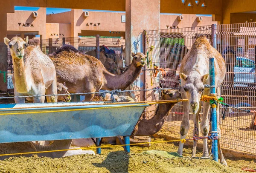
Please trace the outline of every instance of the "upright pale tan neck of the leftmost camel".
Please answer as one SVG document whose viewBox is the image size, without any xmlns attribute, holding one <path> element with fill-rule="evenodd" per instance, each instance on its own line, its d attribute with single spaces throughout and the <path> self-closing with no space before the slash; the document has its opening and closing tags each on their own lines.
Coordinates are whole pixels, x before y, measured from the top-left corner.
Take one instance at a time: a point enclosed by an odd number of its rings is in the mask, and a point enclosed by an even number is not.
<svg viewBox="0 0 256 173">
<path fill-rule="evenodd" d="M 14 70 L 14 78 L 15 78 L 15 89 L 19 93 L 27 93 L 29 92 L 29 85 L 26 80 L 28 77 L 26 74 L 24 59 L 12 58 L 13 61 L 13 70 Z"/>
</svg>

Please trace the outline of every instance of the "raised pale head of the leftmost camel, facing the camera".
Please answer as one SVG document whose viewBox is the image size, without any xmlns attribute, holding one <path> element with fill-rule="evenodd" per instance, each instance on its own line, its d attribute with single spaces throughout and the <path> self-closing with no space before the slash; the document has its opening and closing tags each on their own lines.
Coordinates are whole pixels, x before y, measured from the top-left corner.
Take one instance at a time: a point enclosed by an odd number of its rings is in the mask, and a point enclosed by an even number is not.
<svg viewBox="0 0 256 173">
<path fill-rule="evenodd" d="M 29 42 L 29 37 L 26 37 L 24 40 L 20 37 L 13 37 L 11 40 L 4 38 L 4 43 L 9 46 L 11 55 L 13 58 L 22 59 L 25 54 L 25 48 Z"/>
</svg>

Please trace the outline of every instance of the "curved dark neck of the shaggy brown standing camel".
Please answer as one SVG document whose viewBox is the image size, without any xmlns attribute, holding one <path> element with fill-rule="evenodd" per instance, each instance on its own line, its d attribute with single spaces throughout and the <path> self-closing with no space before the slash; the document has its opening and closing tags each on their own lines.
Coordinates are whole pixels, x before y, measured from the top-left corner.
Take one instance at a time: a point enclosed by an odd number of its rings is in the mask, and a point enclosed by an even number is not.
<svg viewBox="0 0 256 173">
<path fill-rule="evenodd" d="M 128 66 L 127 70 L 121 75 L 113 75 L 109 72 L 105 73 L 106 83 L 102 89 L 125 89 L 130 86 L 140 75 L 142 67 L 136 67 L 134 63 Z"/>
</svg>

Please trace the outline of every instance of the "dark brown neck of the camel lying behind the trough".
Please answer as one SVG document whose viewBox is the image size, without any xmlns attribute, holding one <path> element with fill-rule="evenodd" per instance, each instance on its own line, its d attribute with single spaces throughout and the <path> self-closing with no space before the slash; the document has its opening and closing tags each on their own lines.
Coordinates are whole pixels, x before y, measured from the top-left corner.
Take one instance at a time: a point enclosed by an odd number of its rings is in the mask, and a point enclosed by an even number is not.
<svg viewBox="0 0 256 173">
<path fill-rule="evenodd" d="M 138 131 L 134 136 L 150 136 L 157 133 L 163 127 L 166 117 L 176 103 L 159 104 L 153 118 L 142 119 L 138 123 Z"/>
</svg>

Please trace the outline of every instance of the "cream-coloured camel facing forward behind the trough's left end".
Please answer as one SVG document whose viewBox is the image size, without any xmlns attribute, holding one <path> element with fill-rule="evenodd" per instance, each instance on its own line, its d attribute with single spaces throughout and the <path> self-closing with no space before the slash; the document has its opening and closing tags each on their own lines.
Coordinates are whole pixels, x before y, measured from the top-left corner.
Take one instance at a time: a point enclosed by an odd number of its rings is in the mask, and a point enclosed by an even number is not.
<svg viewBox="0 0 256 173">
<path fill-rule="evenodd" d="M 24 40 L 13 37 L 4 38 L 9 46 L 13 61 L 13 86 L 15 96 L 57 94 L 56 72 L 52 61 L 40 47 L 39 40 L 27 46 L 29 37 Z M 15 98 L 15 103 L 25 103 L 26 98 Z M 44 103 L 45 97 L 33 97 L 34 103 Z M 57 96 L 47 96 L 47 102 L 57 102 Z"/>
</svg>

